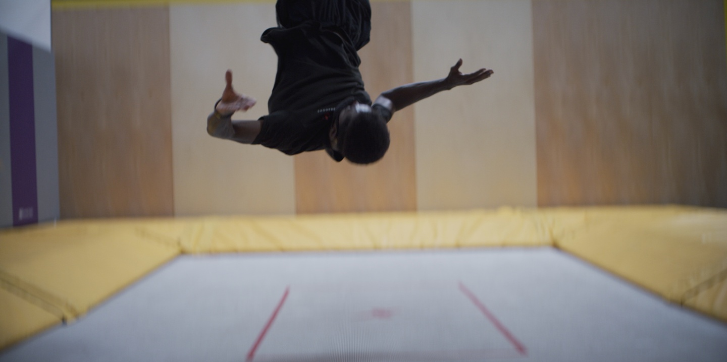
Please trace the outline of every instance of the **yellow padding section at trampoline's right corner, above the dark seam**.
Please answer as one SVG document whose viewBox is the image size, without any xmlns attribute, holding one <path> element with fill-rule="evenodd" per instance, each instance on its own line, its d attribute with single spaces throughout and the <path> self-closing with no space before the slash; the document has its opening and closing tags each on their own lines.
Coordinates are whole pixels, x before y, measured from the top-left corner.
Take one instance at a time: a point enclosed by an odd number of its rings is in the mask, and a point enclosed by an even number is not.
<svg viewBox="0 0 727 362">
<path fill-rule="evenodd" d="M 683 304 L 727 272 L 727 210 L 600 207 L 554 240 L 583 258 L 667 300 Z M 710 307 L 727 313 L 727 304 Z"/>
</svg>

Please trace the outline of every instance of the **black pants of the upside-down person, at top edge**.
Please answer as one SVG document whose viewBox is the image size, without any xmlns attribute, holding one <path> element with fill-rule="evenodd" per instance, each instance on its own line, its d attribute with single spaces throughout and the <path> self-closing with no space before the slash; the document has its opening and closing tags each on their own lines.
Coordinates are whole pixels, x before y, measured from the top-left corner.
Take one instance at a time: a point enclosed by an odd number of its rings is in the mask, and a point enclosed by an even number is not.
<svg viewBox="0 0 727 362">
<path fill-rule="evenodd" d="M 356 50 L 369 43 L 369 0 L 278 0 L 275 9 L 281 28 L 292 28 L 301 22 L 313 21 L 348 37 Z"/>
</svg>

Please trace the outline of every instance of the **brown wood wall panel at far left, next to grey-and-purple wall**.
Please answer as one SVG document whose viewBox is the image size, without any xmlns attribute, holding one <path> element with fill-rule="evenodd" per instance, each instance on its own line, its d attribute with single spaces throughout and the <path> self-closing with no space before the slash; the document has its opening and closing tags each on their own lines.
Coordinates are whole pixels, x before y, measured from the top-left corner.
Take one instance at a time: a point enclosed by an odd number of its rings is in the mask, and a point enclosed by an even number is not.
<svg viewBox="0 0 727 362">
<path fill-rule="evenodd" d="M 52 19 L 61 217 L 172 215 L 168 9 Z"/>
</svg>

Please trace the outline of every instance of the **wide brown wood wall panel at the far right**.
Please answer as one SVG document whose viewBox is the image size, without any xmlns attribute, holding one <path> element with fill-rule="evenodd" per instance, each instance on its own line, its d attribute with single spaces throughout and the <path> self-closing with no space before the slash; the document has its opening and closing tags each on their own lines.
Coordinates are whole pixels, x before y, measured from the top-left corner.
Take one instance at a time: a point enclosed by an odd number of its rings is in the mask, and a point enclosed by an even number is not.
<svg viewBox="0 0 727 362">
<path fill-rule="evenodd" d="M 533 1 L 538 204 L 727 206 L 723 1 Z"/>
</svg>

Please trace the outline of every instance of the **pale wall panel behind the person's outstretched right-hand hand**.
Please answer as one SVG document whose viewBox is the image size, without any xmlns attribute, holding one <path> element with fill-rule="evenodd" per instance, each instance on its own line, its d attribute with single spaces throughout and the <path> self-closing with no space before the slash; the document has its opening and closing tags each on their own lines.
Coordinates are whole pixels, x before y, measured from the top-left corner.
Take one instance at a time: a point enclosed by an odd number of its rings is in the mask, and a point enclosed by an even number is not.
<svg viewBox="0 0 727 362">
<path fill-rule="evenodd" d="M 414 106 L 419 210 L 537 203 L 529 0 L 414 1 L 414 77 L 494 75 Z"/>
</svg>

